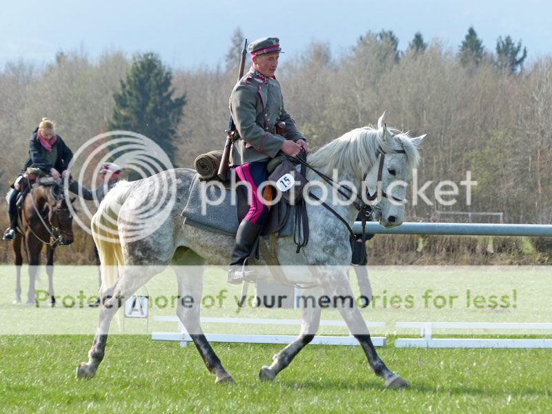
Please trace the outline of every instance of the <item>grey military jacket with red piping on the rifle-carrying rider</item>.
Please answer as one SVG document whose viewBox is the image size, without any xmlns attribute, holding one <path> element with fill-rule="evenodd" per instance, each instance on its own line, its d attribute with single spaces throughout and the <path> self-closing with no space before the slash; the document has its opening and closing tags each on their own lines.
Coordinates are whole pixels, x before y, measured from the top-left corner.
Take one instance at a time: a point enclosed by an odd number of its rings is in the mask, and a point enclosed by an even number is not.
<svg viewBox="0 0 552 414">
<path fill-rule="evenodd" d="M 230 112 L 241 137 L 232 149 L 233 166 L 275 157 L 286 139 L 306 141 L 284 108 L 279 82 L 253 68 L 236 83 L 230 95 Z M 284 137 L 275 134 L 279 121 L 286 123 Z"/>
</svg>

